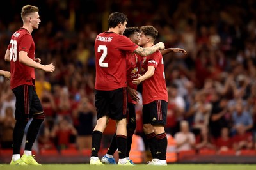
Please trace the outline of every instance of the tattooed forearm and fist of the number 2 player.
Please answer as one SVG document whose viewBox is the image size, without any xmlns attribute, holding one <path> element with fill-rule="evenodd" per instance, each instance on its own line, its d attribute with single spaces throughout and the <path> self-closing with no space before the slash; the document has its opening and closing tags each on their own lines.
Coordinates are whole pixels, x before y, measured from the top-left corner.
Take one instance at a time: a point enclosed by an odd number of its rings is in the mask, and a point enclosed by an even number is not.
<svg viewBox="0 0 256 170">
<path fill-rule="evenodd" d="M 163 42 L 159 42 L 155 45 L 153 45 L 152 47 L 146 47 L 146 48 L 142 48 L 142 47 L 137 47 L 137 49 L 134 50 L 134 52 L 136 54 L 139 54 L 140 56 L 148 56 L 150 54 L 153 54 L 154 52 L 156 52 L 157 50 L 160 49 L 164 49 L 164 43 Z"/>
</svg>

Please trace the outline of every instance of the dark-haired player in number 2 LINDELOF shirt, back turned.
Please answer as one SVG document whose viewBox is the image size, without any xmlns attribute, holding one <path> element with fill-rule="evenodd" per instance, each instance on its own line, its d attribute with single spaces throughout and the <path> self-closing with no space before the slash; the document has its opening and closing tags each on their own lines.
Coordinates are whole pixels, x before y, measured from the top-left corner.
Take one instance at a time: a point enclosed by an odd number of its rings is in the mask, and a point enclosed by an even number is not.
<svg viewBox="0 0 256 170">
<path fill-rule="evenodd" d="M 152 47 L 142 48 L 123 36 L 127 24 L 123 13 L 109 15 L 109 30 L 97 35 L 95 39 L 95 106 L 97 123 L 92 132 L 92 156 L 90 164 L 102 165 L 98 157 L 102 133 L 108 125 L 109 118 L 116 121 L 116 144 L 118 146 L 120 165 L 130 165 L 125 158 L 127 132 L 127 84 L 126 52 L 148 56 L 159 49 L 164 49 L 162 42 Z"/>
</svg>

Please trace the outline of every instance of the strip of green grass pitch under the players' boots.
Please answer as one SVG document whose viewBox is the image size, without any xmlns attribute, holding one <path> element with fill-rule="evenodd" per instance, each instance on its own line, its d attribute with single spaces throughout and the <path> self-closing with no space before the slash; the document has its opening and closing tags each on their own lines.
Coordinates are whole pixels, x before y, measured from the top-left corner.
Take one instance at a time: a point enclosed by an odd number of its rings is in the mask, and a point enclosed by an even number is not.
<svg viewBox="0 0 256 170">
<path fill-rule="evenodd" d="M 10 166 L 0 164 L 1 170 L 126 170 L 126 169 L 147 169 L 147 170 L 255 170 L 256 164 L 169 164 L 168 166 L 147 166 L 137 164 L 136 166 L 90 166 L 89 164 L 44 164 L 42 166 Z"/>
</svg>

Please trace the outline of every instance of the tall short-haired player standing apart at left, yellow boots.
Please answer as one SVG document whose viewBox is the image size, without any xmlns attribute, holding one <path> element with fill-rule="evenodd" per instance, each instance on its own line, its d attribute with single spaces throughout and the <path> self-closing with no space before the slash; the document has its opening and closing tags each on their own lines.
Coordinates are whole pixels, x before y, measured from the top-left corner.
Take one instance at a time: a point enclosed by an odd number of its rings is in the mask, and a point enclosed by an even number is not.
<svg viewBox="0 0 256 170">
<path fill-rule="evenodd" d="M 13 129 L 13 155 L 11 165 L 40 165 L 32 155 L 32 146 L 41 123 L 44 111 L 35 91 L 35 68 L 45 72 L 54 72 L 54 65 L 41 65 L 35 59 L 35 43 L 31 36 L 33 29 L 38 29 L 41 22 L 38 7 L 22 7 L 23 26 L 13 33 L 4 59 L 11 65 L 10 86 L 16 97 L 15 127 Z M 20 146 L 29 118 L 33 117 L 26 135 L 24 154 L 20 158 Z"/>
</svg>

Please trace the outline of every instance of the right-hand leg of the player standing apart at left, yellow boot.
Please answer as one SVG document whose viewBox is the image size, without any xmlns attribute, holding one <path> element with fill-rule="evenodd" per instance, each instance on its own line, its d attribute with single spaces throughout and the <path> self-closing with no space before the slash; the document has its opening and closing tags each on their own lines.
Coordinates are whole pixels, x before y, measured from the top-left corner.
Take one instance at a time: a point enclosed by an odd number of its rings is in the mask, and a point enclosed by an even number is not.
<svg viewBox="0 0 256 170">
<path fill-rule="evenodd" d="M 26 162 L 26 164 L 29 165 L 40 165 L 36 162 L 35 158 L 32 155 L 32 146 L 35 143 L 36 136 L 39 132 L 39 129 L 41 127 L 41 124 L 44 121 L 44 111 L 41 105 L 41 102 L 38 98 L 38 95 L 36 94 L 35 87 L 34 86 L 28 86 L 29 91 L 29 105 L 30 105 L 30 113 L 33 117 L 33 120 L 31 121 L 28 132 L 26 136 L 26 144 L 25 144 L 25 150 L 24 155 L 22 156 L 23 162 Z"/>
</svg>

